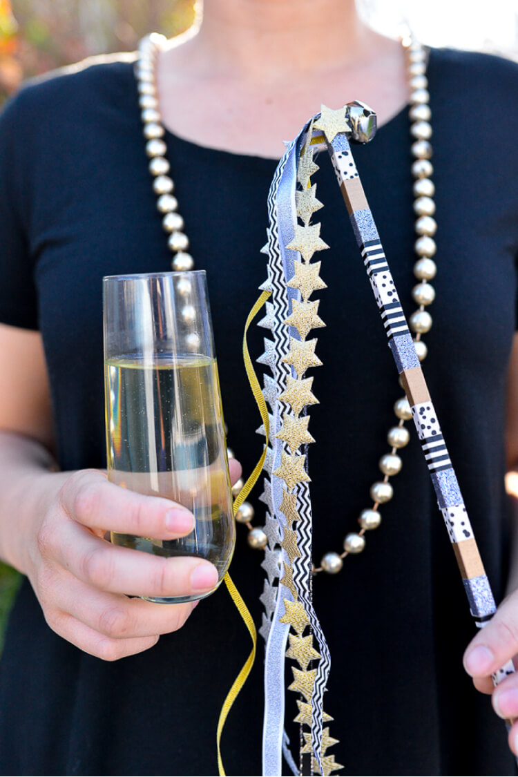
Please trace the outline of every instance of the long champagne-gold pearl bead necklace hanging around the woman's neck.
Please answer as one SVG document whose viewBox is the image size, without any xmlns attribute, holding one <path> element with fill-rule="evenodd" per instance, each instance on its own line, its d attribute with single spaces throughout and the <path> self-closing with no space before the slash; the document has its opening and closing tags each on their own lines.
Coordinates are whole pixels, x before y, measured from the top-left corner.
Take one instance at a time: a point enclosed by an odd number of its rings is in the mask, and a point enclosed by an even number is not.
<svg viewBox="0 0 518 777">
<path fill-rule="evenodd" d="M 149 172 L 153 176 L 153 190 L 157 195 L 157 208 L 162 214 L 162 226 L 169 235 L 168 246 L 172 252 L 172 269 L 186 271 L 194 269 L 193 257 L 188 253 L 189 239 L 183 232 L 183 218 L 178 213 L 178 200 L 173 195 L 174 183 L 169 176 L 169 161 L 166 159 L 167 147 L 164 136 L 165 129 L 162 124 L 162 115 L 158 105 L 158 92 L 156 85 L 156 60 L 158 52 L 166 43 L 165 37 L 152 33 L 141 40 L 138 47 L 138 59 L 135 65 L 137 89 L 139 93 L 139 105 L 141 107 L 141 119 L 144 124 L 144 138 L 146 138 L 146 153 L 150 159 Z M 414 249 L 419 257 L 414 264 L 414 275 L 419 283 L 412 289 L 412 298 L 418 305 L 408 321 L 414 333 L 415 350 L 419 361 L 426 358 L 428 352 L 426 344 L 422 341 L 422 334 L 429 332 L 432 327 L 432 317 L 426 308 L 435 299 L 435 289 L 429 283 L 435 277 L 436 263 L 432 257 L 436 253 L 436 244 L 433 236 L 436 233 L 435 203 L 433 194 L 435 187 L 430 176 L 433 175 L 433 166 L 429 161 L 432 156 L 432 146 L 429 139 L 432 136 L 432 127 L 429 124 L 431 111 L 429 108 L 429 93 L 427 91 L 428 80 L 426 78 L 426 51 L 417 41 L 403 40 L 405 49 L 406 66 L 409 87 L 410 110 L 408 117 L 411 121 L 410 134 L 412 136 L 412 176 L 415 179 L 413 185 L 415 232 L 416 239 Z M 179 284 L 180 285 L 180 284 Z M 184 291 L 189 293 L 189 282 L 186 281 Z M 179 288 L 182 293 L 182 288 Z M 185 305 L 182 315 L 187 319 L 190 315 L 189 305 Z M 189 347 L 197 350 L 197 336 L 191 336 Z M 401 385 L 401 382 L 400 382 Z M 377 480 L 370 486 L 371 507 L 362 510 L 358 522 L 360 531 L 351 531 L 343 541 L 343 551 L 327 552 L 322 557 L 321 566 L 314 568 L 314 573 L 327 572 L 335 574 L 342 569 L 343 559 L 349 555 L 355 555 L 363 551 L 366 545 L 365 534 L 381 524 L 381 513 L 378 509 L 392 499 L 394 489 L 390 483 L 402 469 L 402 459 L 398 454 L 401 448 L 405 448 L 410 440 L 410 434 L 405 427 L 405 422 L 412 419 L 412 413 L 408 399 L 403 396 L 394 405 L 397 425 L 388 430 L 387 441 L 390 451 L 381 456 L 379 468 L 383 479 Z M 228 449 L 228 458 L 234 458 L 234 454 Z M 243 480 L 240 478 L 232 488 L 234 497 L 237 497 L 242 489 Z M 252 548 L 264 549 L 266 547 L 266 534 L 262 528 L 252 527 L 254 508 L 249 502 L 243 502 L 235 516 L 238 523 L 245 524 L 249 528 L 248 542 Z"/>
</svg>

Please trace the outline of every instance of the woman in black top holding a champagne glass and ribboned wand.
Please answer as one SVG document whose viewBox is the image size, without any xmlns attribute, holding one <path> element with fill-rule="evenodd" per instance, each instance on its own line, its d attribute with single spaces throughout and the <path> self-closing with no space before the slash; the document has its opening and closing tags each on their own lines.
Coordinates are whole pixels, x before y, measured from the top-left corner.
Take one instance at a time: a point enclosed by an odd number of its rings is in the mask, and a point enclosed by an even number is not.
<svg viewBox="0 0 518 777">
<path fill-rule="evenodd" d="M 518 170 L 513 144 L 492 117 L 516 124 L 518 70 L 492 57 L 432 51 L 428 75 L 440 272 L 426 378 L 500 595 Z M 261 443 L 252 441 L 256 410 L 239 343 L 265 278 L 258 251 L 266 194 L 280 141 L 321 103 L 360 98 L 377 110 L 381 130 L 355 155 L 400 294 L 407 304 L 411 298 L 402 49 L 363 25 L 353 0 L 207 0 L 200 33 L 160 55 L 158 92 L 190 250 L 209 278 L 229 444 L 249 472 Z M 2 768 L 214 774 L 217 714 L 249 650 L 245 629 L 222 590 L 194 612 L 123 595 L 203 593 L 214 570 L 199 559 L 164 564 L 107 544 L 110 529 L 183 535 L 189 514 L 119 490 L 89 469 L 105 463 L 101 278 L 170 263 L 132 62 L 87 62 L 27 86 L 3 114 L 0 160 L 0 549 L 28 578 L 2 657 Z M 322 236 L 332 249 L 322 259 L 328 326 L 319 338 L 329 381 L 320 380 L 321 404 L 311 413 L 317 560 L 340 548 L 367 506 L 401 396 L 332 170 L 326 160 L 321 168 Z M 336 347 L 344 333 L 346 350 Z M 256 355 L 260 347 L 252 336 Z M 510 364 L 512 468 L 518 362 Z M 333 657 L 326 709 L 340 740 L 336 760 L 366 775 L 511 774 L 503 724 L 461 674 L 473 627 L 415 440 L 405 453 L 395 499 L 366 551 L 339 575 L 315 580 Z M 232 572 L 256 622 L 260 560 L 241 536 Z M 517 624 L 518 594 L 511 594 L 466 654 L 481 690 L 517 652 Z M 231 774 L 260 772 L 260 664 L 224 733 Z M 518 715 L 516 688 L 510 677 L 495 692 L 502 716 Z M 293 699 L 288 704 L 294 708 Z M 288 733 L 297 743 L 297 725 L 288 723 Z M 518 751 L 516 733 L 518 726 L 509 744 Z"/>
</svg>

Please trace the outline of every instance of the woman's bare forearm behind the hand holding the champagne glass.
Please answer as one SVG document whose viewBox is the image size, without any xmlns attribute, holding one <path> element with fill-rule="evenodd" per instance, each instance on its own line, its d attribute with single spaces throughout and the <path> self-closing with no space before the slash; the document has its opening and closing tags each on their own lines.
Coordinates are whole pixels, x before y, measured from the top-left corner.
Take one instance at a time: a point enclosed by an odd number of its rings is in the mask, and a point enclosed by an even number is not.
<svg viewBox="0 0 518 777">
<path fill-rule="evenodd" d="M 23 573 L 37 517 L 70 476 L 53 469 L 54 459 L 43 445 L 0 431 L 0 558 Z"/>
</svg>

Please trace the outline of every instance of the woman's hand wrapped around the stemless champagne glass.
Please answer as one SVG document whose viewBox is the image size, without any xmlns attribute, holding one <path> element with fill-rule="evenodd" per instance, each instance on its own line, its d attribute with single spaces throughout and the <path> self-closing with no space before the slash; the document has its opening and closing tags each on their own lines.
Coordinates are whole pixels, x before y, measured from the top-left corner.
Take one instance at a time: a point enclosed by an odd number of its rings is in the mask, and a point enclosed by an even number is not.
<svg viewBox="0 0 518 777">
<path fill-rule="evenodd" d="M 229 463 L 235 483 L 241 467 Z M 46 507 L 35 516 L 24 571 L 50 628 L 81 650 L 104 660 L 140 653 L 179 629 L 196 604 L 159 605 L 128 595 L 201 596 L 216 585 L 217 570 L 206 560 L 162 558 L 104 539 L 106 531 L 182 537 L 193 528 L 186 508 L 116 486 L 94 469 L 42 478 Z"/>
</svg>

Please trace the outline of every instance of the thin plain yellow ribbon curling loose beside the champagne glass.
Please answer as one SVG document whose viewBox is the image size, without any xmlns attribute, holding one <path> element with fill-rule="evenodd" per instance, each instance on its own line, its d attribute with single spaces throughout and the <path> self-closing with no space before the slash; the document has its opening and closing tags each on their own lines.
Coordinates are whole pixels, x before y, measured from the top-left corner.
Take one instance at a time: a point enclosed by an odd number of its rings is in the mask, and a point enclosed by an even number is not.
<svg viewBox="0 0 518 777">
<path fill-rule="evenodd" d="M 263 291 L 259 299 L 256 301 L 256 304 L 249 312 L 248 319 L 246 319 L 245 334 L 243 336 L 243 359 L 245 361 L 246 375 L 249 378 L 253 395 L 256 399 L 257 406 L 259 407 L 259 413 L 261 413 L 262 423 L 264 424 L 264 428 L 266 431 L 266 445 L 265 445 L 264 451 L 262 451 L 261 458 L 259 458 L 259 462 L 257 462 L 256 467 L 252 472 L 252 475 L 246 481 L 245 485 L 242 487 L 242 490 L 238 493 L 238 497 L 236 497 L 236 499 L 234 500 L 234 514 L 237 513 L 239 507 L 241 507 L 242 503 L 245 501 L 246 497 L 248 497 L 252 488 L 256 485 L 257 480 L 259 479 L 259 475 L 261 474 L 262 465 L 264 464 L 264 460 L 266 458 L 266 447 L 268 445 L 268 437 L 269 437 L 268 410 L 266 409 L 266 402 L 264 401 L 264 397 L 262 396 L 261 387 L 259 385 L 259 381 L 257 380 L 256 373 L 252 366 L 252 360 L 249 354 L 249 347 L 246 343 L 246 335 L 249 331 L 250 324 L 252 323 L 253 319 L 256 318 L 257 313 L 262 308 L 262 305 L 264 305 L 266 300 L 269 298 L 270 294 L 271 294 L 271 291 Z M 223 706 L 221 707 L 219 720 L 217 721 L 217 730 L 216 730 L 217 771 L 220 777 L 225 777 L 223 761 L 221 760 L 221 732 L 223 731 L 223 726 L 225 724 L 225 721 L 227 720 L 227 716 L 228 716 L 228 713 L 230 712 L 231 706 L 234 704 L 235 699 L 237 699 L 238 693 L 241 691 L 243 685 L 245 685 L 245 682 L 250 674 L 250 670 L 252 669 L 254 659 L 256 658 L 256 644 L 257 644 L 256 626 L 254 625 L 252 615 L 250 615 L 249 610 L 245 605 L 245 602 L 242 600 L 242 597 L 239 594 L 238 589 L 235 587 L 228 573 L 224 576 L 224 582 L 228 588 L 228 593 L 231 595 L 232 601 L 234 602 L 235 606 L 238 608 L 239 615 L 241 615 L 241 617 L 245 621 L 246 628 L 249 630 L 249 634 L 252 637 L 252 650 L 250 652 L 249 657 L 246 659 L 245 664 L 242 667 L 242 670 L 239 672 L 237 678 L 235 678 L 235 681 L 232 683 L 232 687 L 227 694 L 227 698 L 224 700 Z"/>
</svg>

